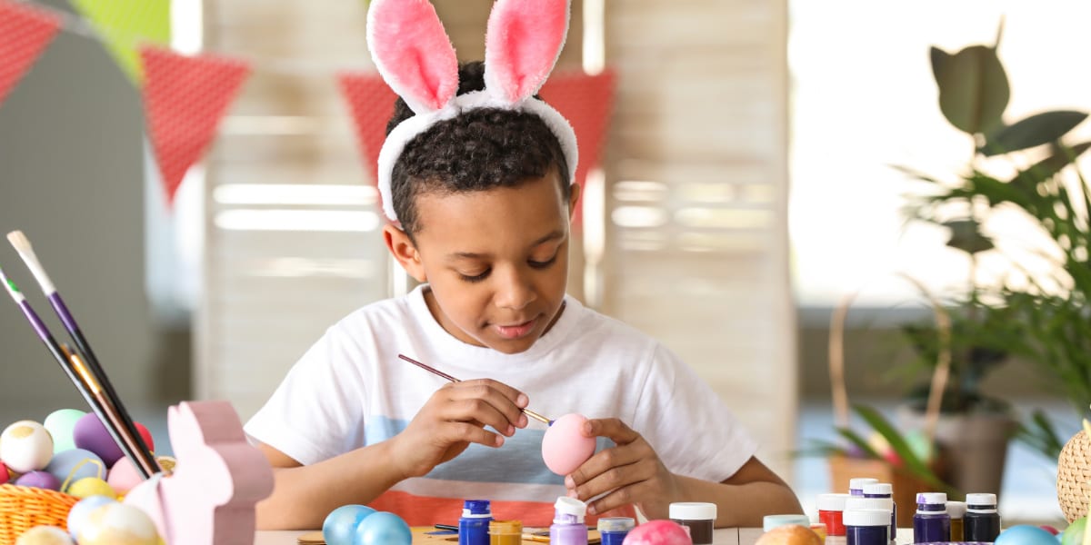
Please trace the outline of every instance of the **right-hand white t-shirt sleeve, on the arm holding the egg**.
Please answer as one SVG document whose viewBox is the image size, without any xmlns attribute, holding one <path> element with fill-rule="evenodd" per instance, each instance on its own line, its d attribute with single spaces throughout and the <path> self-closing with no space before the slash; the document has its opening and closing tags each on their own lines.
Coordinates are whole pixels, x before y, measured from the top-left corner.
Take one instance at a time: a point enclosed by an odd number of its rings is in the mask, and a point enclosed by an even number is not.
<svg viewBox="0 0 1091 545">
<path fill-rule="evenodd" d="M 635 429 L 680 475 L 719 483 L 757 451 L 757 441 L 711 387 L 661 346 L 654 351 L 635 420 Z"/>
</svg>

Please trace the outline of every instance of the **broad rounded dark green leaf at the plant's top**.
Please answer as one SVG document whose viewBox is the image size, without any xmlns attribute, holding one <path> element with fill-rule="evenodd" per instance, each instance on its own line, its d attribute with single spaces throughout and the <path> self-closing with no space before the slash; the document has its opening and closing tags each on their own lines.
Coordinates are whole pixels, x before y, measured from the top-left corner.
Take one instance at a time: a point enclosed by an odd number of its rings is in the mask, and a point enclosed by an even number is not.
<svg viewBox="0 0 1091 545">
<path fill-rule="evenodd" d="M 995 48 L 970 46 L 948 55 L 933 47 L 932 73 L 939 87 L 939 109 L 952 125 L 970 134 L 1000 125 L 1011 89 Z"/>
</svg>

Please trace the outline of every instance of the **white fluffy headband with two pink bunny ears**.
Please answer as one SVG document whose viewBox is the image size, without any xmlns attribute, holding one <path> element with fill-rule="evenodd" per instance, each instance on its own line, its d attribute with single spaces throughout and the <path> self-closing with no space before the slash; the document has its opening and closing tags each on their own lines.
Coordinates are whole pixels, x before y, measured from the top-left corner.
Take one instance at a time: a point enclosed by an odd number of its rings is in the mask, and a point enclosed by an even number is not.
<svg viewBox="0 0 1091 545">
<path fill-rule="evenodd" d="M 457 95 L 458 61 L 432 4 L 371 1 L 371 57 L 386 84 L 415 113 L 391 131 L 379 152 L 379 194 L 391 221 L 398 221 L 391 178 L 406 144 L 466 110 L 501 108 L 538 116 L 561 143 L 568 180 L 575 180 L 576 133 L 561 113 L 533 98 L 553 70 L 567 31 L 568 0 L 496 0 L 485 33 L 485 88 Z"/>
</svg>

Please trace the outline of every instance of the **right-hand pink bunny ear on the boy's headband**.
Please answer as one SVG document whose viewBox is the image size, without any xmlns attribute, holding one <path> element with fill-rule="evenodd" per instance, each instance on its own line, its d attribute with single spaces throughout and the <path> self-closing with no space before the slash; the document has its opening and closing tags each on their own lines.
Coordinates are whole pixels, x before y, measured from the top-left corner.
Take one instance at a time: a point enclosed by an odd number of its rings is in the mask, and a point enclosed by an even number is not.
<svg viewBox="0 0 1091 545">
<path fill-rule="evenodd" d="M 568 0 L 497 0 L 484 39 L 484 86 L 515 104 L 546 83 L 568 33 Z"/>
</svg>

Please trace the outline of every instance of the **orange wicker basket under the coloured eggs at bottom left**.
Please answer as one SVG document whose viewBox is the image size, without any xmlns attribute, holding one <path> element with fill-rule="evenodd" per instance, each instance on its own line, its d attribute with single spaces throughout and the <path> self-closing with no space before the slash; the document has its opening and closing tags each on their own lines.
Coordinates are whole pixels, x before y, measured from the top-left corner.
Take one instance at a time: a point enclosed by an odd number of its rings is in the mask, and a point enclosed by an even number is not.
<svg viewBox="0 0 1091 545">
<path fill-rule="evenodd" d="M 68 513 L 80 498 L 60 492 L 0 485 L 0 545 L 13 545 L 34 526 L 68 530 Z"/>
</svg>

